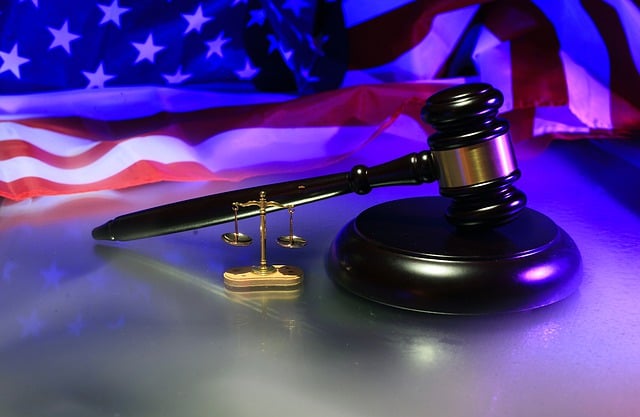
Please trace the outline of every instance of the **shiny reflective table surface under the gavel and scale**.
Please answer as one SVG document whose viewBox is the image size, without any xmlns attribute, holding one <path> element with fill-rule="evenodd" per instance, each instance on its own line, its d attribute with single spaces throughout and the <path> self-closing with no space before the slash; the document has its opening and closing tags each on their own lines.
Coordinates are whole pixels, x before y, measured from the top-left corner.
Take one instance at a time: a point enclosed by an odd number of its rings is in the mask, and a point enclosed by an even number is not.
<svg viewBox="0 0 640 417">
<path fill-rule="evenodd" d="M 420 146 L 383 135 L 304 176 Z M 291 175 L 4 202 L 0 415 L 640 416 L 639 168 L 586 140 L 555 142 L 520 167 L 529 206 L 580 248 L 583 282 L 557 304 L 479 317 L 374 304 L 327 276 L 344 224 L 380 202 L 437 195 L 434 184 L 299 207 L 296 234 L 309 244 L 268 248 L 273 263 L 305 271 L 290 296 L 225 291 L 223 271 L 259 256 L 222 242 L 232 225 L 123 243 L 90 232 L 129 211 Z M 270 215 L 270 233 L 287 220 Z M 257 219 L 240 227 L 257 233 Z"/>
</svg>

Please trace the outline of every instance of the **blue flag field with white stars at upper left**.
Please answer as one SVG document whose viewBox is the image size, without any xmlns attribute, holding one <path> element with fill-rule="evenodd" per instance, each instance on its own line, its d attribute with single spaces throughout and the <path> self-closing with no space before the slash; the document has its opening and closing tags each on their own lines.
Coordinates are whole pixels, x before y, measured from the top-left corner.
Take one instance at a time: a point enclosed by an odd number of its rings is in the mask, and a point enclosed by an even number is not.
<svg viewBox="0 0 640 417">
<path fill-rule="evenodd" d="M 164 85 L 309 93 L 339 86 L 338 1 L 0 2 L 0 91 Z"/>
</svg>

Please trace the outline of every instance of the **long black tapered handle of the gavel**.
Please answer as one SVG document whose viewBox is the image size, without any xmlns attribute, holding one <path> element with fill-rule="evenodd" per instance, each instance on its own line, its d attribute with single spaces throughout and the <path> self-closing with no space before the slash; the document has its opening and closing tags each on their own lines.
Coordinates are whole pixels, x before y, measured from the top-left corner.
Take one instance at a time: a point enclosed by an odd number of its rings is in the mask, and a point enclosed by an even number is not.
<svg viewBox="0 0 640 417">
<path fill-rule="evenodd" d="M 92 236 L 127 241 L 225 223 L 234 218 L 233 203 L 255 200 L 261 191 L 269 200 L 297 206 L 352 192 L 366 194 L 374 187 L 433 182 L 437 177 L 430 151 L 411 153 L 370 168 L 356 165 L 345 173 L 228 191 L 124 214 L 96 227 Z M 258 208 L 246 208 L 238 212 L 238 218 L 258 214 Z"/>
</svg>

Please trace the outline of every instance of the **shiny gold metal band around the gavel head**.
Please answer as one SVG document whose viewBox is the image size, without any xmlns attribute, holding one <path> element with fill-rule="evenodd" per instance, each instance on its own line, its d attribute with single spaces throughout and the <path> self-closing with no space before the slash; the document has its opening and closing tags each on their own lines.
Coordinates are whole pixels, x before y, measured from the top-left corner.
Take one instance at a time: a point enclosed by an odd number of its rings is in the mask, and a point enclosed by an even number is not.
<svg viewBox="0 0 640 417">
<path fill-rule="evenodd" d="M 471 146 L 432 151 L 440 171 L 440 188 L 481 184 L 513 173 L 518 167 L 508 135 Z"/>
</svg>

